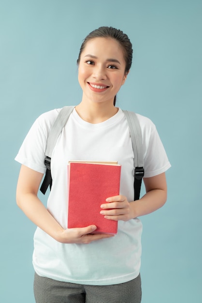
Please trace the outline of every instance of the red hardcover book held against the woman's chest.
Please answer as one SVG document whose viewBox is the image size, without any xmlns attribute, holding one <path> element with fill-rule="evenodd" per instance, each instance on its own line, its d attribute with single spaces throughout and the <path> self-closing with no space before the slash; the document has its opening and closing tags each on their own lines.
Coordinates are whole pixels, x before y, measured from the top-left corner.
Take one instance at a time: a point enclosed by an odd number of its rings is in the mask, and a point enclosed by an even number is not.
<svg viewBox="0 0 202 303">
<path fill-rule="evenodd" d="M 71 162 L 68 228 L 96 225 L 93 233 L 117 233 L 117 221 L 100 214 L 107 197 L 119 195 L 120 165 Z"/>
</svg>

